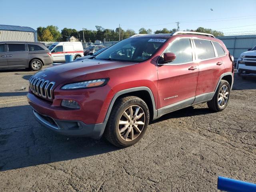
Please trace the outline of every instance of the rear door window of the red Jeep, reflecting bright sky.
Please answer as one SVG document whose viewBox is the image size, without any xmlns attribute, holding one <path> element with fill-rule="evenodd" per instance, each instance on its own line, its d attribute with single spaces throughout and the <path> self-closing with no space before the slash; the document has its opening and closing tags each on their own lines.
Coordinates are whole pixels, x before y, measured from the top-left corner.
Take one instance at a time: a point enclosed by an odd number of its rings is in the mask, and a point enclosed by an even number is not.
<svg viewBox="0 0 256 192">
<path fill-rule="evenodd" d="M 207 40 L 194 39 L 198 59 L 210 59 L 215 57 L 212 43 Z"/>
</svg>

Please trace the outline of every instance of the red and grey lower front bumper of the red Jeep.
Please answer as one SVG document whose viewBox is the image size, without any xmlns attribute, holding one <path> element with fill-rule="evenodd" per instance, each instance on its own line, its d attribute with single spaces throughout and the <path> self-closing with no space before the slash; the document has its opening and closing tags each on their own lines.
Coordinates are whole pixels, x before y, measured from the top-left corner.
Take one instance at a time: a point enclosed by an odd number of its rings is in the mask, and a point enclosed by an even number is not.
<svg viewBox="0 0 256 192">
<path fill-rule="evenodd" d="M 85 124 L 81 120 L 72 118 L 77 113 L 76 111 L 65 111 L 60 110 L 58 107 L 52 107 L 31 93 L 27 94 L 27 98 L 36 120 L 45 127 L 68 136 L 82 136 L 94 139 L 102 137 L 107 121 L 98 124 Z"/>
</svg>

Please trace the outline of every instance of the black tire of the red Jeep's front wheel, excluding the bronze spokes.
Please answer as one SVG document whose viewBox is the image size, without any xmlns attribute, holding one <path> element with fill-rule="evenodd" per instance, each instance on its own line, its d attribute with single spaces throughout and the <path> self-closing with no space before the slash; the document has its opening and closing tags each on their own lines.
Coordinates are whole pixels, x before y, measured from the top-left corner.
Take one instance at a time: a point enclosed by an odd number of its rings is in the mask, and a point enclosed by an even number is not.
<svg viewBox="0 0 256 192">
<path fill-rule="evenodd" d="M 120 126 L 122 126 L 122 125 L 119 125 L 119 120 L 121 120 L 121 118 L 123 118 L 123 116 L 122 116 L 123 113 L 126 110 L 128 110 L 128 108 L 130 108 L 130 107 L 135 107 L 135 108 L 139 107 L 141 110 L 143 110 L 144 116 L 142 118 L 144 120 L 144 127 L 142 128 L 140 133 L 134 132 L 135 125 L 133 125 L 133 123 L 132 123 L 132 125 L 129 125 L 128 128 L 126 128 L 126 130 L 128 131 L 128 129 L 130 128 L 130 129 L 132 129 L 132 133 L 134 133 L 134 135 L 138 134 L 138 136 L 136 136 L 136 138 L 134 138 L 133 140 L 124 140 L 124 135 L 122 136 L 118 131 Z M 133 114 L 134 114 L 134 112 L 133 112 Z M 130 116 L 130 114 L 129 114 L 129 116 Z M 134 122 L 134 121 L 132 121 L 132 122 Z M 149 110 L 148 110 L 148 106 L 146 105 L 146 103 L 141 98 L 138 98 L 135 96 L 126 96 L 126 97 L 118 99 L 115 102 L 113 110 L 108 119 L 108 124 L 106 126 L 104 136 L 110 143 L 114 144 L 117 147 L 120 147 L 120 148 L 129 147 L 129 146 L 136 144 L 143 137 L 143 135 L 145 134 L 146 129 L 148 127 L 148 122 L 149 122 Z M 137 127 L 138 127 L 138 125 L 137 125 Z M 124 132 L 126 132 L 126 131 L 124 131 Z M 130 134 L 131 133 L 129 132 L 128 135 L 130 135 Z M 129 136 L 129 137 L 131 137 L 131 136 Z"/>
</svg>

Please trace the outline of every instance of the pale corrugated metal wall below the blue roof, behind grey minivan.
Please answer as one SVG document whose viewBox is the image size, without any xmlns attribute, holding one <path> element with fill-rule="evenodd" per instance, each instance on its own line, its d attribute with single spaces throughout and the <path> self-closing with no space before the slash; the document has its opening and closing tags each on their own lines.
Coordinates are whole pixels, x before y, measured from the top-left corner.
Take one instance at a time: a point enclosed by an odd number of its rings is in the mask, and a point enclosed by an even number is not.
<svg viewBox="0 0 256 192">
<path fill-rule="evenodd" d="M 0 41 L 36 41 L 35 32 L 0 30 Z"/>
</svg>

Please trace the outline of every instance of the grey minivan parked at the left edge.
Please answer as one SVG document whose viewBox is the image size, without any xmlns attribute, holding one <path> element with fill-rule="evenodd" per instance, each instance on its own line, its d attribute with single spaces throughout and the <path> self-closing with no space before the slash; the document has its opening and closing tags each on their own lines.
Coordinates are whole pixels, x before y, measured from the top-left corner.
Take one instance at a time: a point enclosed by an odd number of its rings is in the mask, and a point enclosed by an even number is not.
<svg viewBox="0 0 256 192">
<path fill-rule="evenodd" d="M 52 64 L 48 48 L 37 42 L 0 42 L 0 69 L 30 68 L 38 71 Z"/>
</svg>

